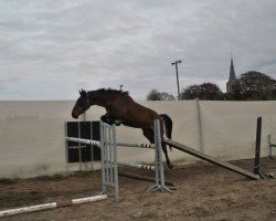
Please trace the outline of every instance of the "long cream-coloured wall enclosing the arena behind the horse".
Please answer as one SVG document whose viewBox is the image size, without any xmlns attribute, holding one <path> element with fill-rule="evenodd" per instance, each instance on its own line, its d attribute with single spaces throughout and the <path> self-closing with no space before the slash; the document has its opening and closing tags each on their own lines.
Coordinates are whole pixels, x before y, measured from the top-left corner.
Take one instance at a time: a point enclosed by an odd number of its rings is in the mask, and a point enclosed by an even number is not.
<svg viewBox="0 0 276 221">
<path fill-rule="evenodd" d="M 173 139 L 223 160 L 254 157 L 256 118 L 263 117 L 262 156 L 267 135 L 276 137 L 276 102 L 142 102 L 173 120 Z M 64 123 L 74 120 L 74 102 L 0 102 L 0 178 L 36 177 L 78 169 L 66 164 Z M 92 107 L 86 120 L 105 114 Z M 120 126 L 118 141 L 147 143 L 140 129 Z M 178 150 L 174 162 L 195 158 Z M 153 150 L 119 148 L 121 161 L 152 161 Z M 85 165 L 87 169 L 93 165 Z"/>
</svg>

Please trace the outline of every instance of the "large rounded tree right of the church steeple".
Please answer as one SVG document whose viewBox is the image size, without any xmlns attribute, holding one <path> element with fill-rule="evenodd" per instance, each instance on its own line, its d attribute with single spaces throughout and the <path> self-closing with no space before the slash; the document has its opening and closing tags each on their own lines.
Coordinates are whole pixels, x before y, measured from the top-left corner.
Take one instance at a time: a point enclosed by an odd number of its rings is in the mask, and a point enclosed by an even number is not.
<svg viewBox="0 0 276 221">
<path fill-rule="evenodd" d="M 276 81 L 261 72 L 250 71 L 242 74 L 231 86 L 234 99 L 275 98 Z"/>
</svg>

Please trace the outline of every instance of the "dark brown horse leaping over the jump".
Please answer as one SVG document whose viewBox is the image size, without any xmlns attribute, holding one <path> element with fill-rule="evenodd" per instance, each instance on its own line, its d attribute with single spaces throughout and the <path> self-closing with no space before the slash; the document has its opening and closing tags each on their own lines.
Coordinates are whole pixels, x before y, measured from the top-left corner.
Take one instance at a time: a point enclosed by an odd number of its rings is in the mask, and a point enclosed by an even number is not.
<svg viewBox="0 0 276 221">
<path fill-rule="evenodd" d="M 171 139 L 172 120 L 166 115 L 158 115 L 155 110 L 136 103 L 128 94 L 128 92 L 100 88 L 96 91 L 86 92 L 78 91 L 77 98 L 73 109 L 72 117 L 85 113 L 91 106 L 97 105 L 106 108 L 106 114 L 100 117 L 107 124 L 125 125 L 135 128 L 141 128 L 144 136 L 151 143 L 155 143 L 153 119 L 160 120 L 161 137 L 166 136 Z M 162 144 L 167 166 L 172 169 L 173 165 L 170 162 L 167 146 Z"/>
</svg>

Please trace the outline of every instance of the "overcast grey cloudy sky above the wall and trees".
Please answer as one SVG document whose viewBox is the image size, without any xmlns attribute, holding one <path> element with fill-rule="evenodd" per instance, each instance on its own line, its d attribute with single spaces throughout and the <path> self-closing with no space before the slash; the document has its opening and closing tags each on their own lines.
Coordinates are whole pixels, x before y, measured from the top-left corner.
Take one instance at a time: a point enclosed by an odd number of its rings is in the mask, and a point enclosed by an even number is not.
<svg viewBox="0 0 276 221">
<path fill-rule="evenodd" d="M 151 90 L 276 77 L 275 0 L 0 0 L 0 101 L 76 99 L 78 90 Z"/>
</svg>

